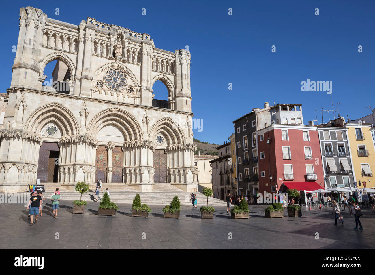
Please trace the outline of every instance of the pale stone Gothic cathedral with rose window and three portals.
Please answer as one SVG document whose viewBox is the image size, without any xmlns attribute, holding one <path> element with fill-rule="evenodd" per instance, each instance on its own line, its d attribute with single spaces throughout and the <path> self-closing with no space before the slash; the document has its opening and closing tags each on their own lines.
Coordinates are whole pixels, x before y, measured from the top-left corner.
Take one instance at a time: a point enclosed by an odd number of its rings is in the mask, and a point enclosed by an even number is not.
<svg viewBox="0 0 375 275">
<path fill-rule="evenodd" d="M 0 132 L 0 191 L 24 191 L 37 179 L 68 189 L 102 179 L 140 192 L 158 182 L 197 191 L 190 58 L 184 49 L 156 48 L 150 34 L 21 8 Z M 165 100 L 154 98 L 157 80 Z"/>
</svg>

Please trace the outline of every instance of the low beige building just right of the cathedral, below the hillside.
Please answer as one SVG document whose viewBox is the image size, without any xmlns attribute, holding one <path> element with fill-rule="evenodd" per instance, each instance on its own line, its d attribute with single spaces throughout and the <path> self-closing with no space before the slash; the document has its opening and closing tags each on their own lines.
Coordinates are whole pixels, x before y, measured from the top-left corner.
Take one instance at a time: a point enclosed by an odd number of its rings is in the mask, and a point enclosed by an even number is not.
<svg viewBox="0 0 375 275">
<path fill-rule="evenodd" d="M 212 189 L 212 168 L 209 161 L 212 161 L 215 158 L 216 156 L 201 155 L 201 151 L 198 151 L 198 155 L 194 155 L 194 167 L 199 170 L 199 192 L 201 192 L 204 187 Z"/>
</svg>

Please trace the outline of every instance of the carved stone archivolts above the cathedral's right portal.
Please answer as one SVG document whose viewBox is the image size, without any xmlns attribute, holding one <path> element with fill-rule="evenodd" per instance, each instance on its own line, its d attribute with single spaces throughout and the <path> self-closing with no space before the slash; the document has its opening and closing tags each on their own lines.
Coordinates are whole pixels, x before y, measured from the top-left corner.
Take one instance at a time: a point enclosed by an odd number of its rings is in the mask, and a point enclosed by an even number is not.
<svg viewBox="0 0 375 275">
<path fill-rule="evenodd" d="M 186 142 L 186 137 L 181 127 L 170 117 L 164 117 L 155 122 L 148 132 L 148 139 L 154 141 L 157 134 L 162 134 L 168 144 Z"/>
</svg>

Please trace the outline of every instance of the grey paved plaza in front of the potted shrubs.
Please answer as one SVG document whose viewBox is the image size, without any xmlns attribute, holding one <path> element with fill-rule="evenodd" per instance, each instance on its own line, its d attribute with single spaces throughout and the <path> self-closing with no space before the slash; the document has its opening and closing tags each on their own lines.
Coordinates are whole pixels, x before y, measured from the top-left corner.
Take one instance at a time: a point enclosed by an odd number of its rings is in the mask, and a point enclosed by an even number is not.
<svg viewBox="0 0 375 275">
<path fill-rule="evenodd" d="M 265 205 L 249 205 L 249 219 L 232 220 L 225 207 L 216 207 L 213 220 L 202 220 L 199 206 L 181 207 L 180 219 L 163 219 L 163 205 L 150 205 L 152 212 L 145 219 L 132 218 L 129 204 L 118 204 L 117 214 L 110 217 L 97 215 L 99 203 L 88 202 L 85 214 L 72 214 L 72 202 L 61 201 L 54 219 L 52 205 L 46 205 L 43 217 L 29 226 L 23 204 L 1 204 L 0 248 L 371 249 L 375 241 L 375 213 L 370 208 L 363 208 L 364 229 L 356 231 L 348 210 L 341 213 L 344 224 L 333 225 L 332 208 L 303 208 L 302 218 L 286 217 L 285 210 L 284 218 L 267 219 Z"/>
</svg>

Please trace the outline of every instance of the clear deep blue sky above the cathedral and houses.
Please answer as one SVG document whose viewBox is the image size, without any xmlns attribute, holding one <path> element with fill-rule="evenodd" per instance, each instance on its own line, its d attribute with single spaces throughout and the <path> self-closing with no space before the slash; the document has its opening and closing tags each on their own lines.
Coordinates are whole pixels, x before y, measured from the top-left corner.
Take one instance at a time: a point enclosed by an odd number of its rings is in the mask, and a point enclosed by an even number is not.
<svg viewBox="0 0 375 275">
<path fill-rule="evenodd" d="M 308 78 L 332 81 L 335 110 L 342 103 L 345 119 L 370 114 L 368 105 L 375 108 L 374 0 L 7 1 L 1 10 L 3 92 L 10 85 L 19 10 L 26 6 L 71 24 L 90 16 L 149 33 L 157 48 L 172 52 L 188 45 L 192 111 L 203 119 L 203 131 L 194 130 L 194 137 L 202 141 L 222 144 L 234 131 L 231 122 L 264 101 L 302 104 L 305 123 L 315 119 L 317 109 L 321 122 L 319 111 L 332 110 L 331 98 L 325 92 L 302 92 L 300 83 Z M 314 15 L 315 8 L 320 15 Z"/>
</svg>

